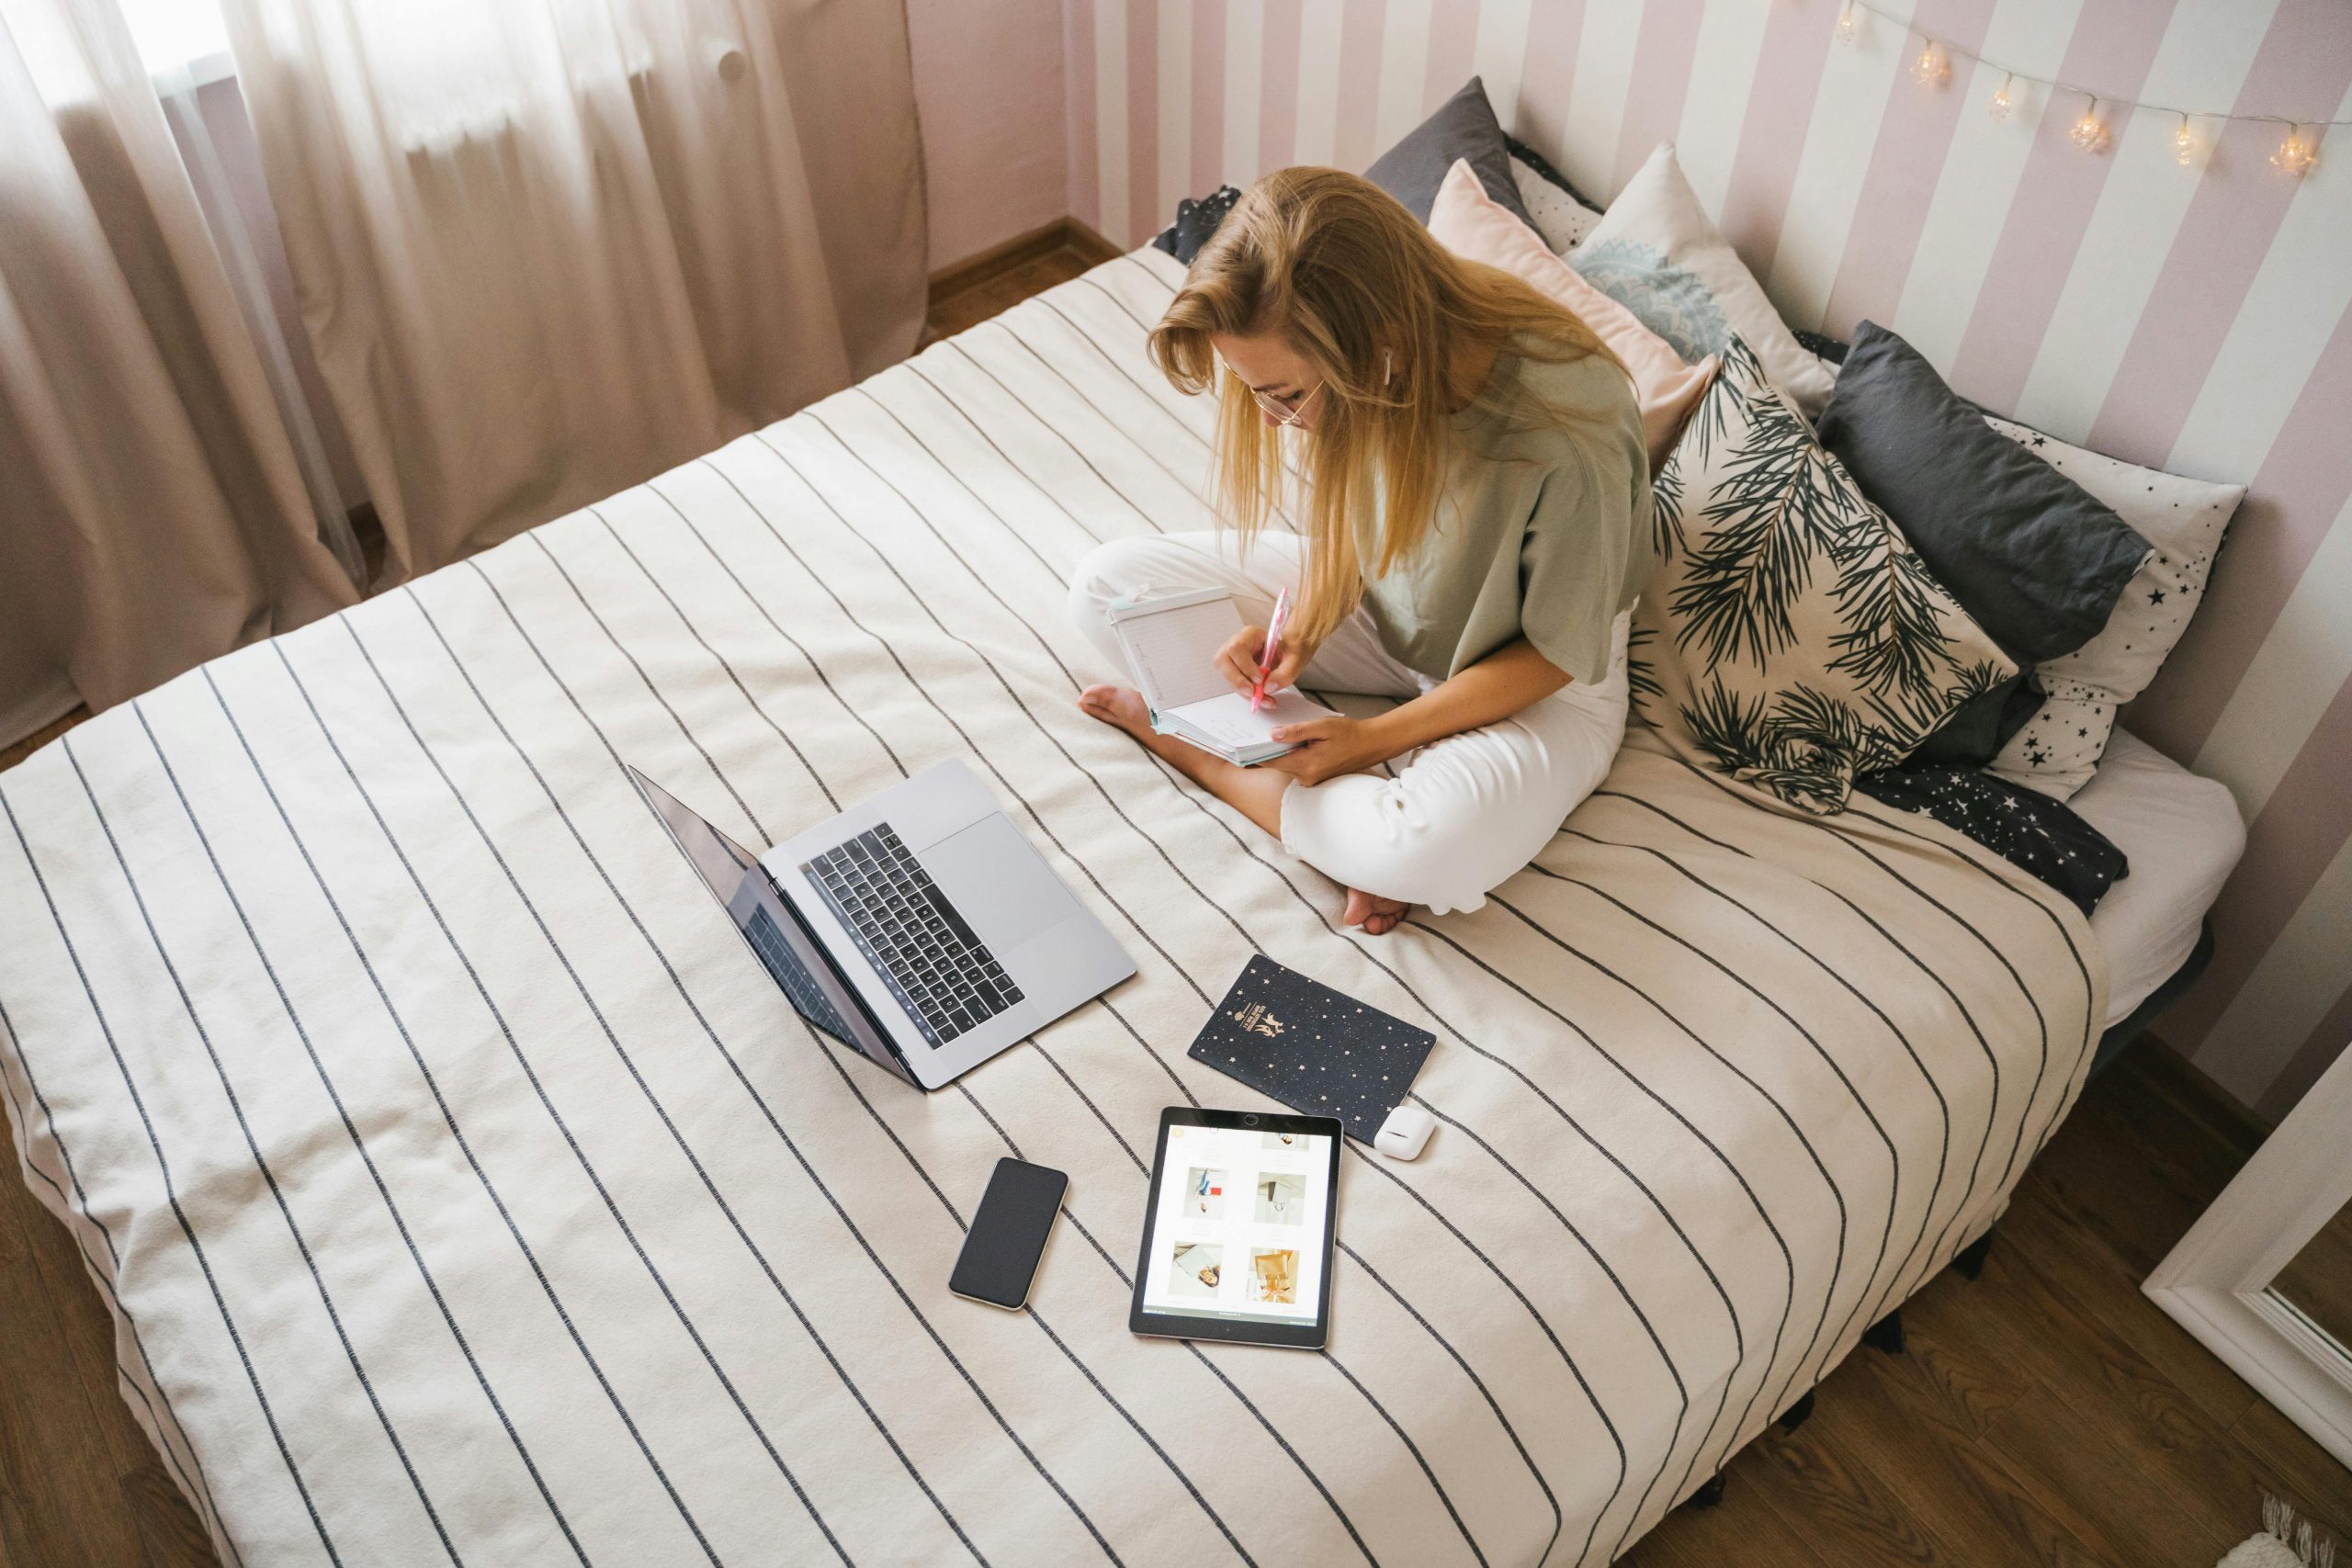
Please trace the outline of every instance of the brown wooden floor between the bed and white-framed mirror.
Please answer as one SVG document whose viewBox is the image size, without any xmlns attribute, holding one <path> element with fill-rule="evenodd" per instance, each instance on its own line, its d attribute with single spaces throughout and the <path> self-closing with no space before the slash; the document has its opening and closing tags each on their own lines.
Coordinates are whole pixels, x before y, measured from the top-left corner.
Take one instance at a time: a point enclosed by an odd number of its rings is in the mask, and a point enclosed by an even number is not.
<svg viewBox="0 0 2352 1568">
<path fill-rule="evenodd" d="M 2206 1568 L 2263 1493 L 2352 1544 L 2352 1472 L 2138 1291 L 2258 1140 L 2138 1041 L 2025 1173 L 1983 1279 L 1931 1281 L 1903 1354 L 1858 1349 L 1809 1422 L 1731 1462 L 1722 1507 L 1628 1561 Z"/>
</svg>

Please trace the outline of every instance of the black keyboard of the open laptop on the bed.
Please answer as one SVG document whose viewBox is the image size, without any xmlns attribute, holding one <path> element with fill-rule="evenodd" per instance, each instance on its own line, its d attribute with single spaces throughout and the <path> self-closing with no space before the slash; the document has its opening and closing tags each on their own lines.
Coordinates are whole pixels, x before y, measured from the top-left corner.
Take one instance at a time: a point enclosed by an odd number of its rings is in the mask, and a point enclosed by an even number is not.
<svg viewBox="0 0 2352 1568">
<path fill-rule="evenodd" d="M 800 870 L 929 1044 L 943 1046 L 1021 1001 L 1021 987 L 889 823 Z"/>
</svg>

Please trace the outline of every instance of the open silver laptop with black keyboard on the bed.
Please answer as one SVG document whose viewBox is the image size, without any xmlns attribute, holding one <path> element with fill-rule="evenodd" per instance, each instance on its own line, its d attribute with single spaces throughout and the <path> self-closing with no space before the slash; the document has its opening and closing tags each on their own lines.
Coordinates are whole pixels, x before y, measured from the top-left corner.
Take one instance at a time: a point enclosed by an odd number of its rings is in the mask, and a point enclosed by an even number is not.
<svg viewBox="0 0 2352 1568">
<path fill-rule="evenodd" d="M 793 1009 L 920 1088 L 1136 973 L 957 759 L 764 856 L 628 778 Z"/>
</svg>

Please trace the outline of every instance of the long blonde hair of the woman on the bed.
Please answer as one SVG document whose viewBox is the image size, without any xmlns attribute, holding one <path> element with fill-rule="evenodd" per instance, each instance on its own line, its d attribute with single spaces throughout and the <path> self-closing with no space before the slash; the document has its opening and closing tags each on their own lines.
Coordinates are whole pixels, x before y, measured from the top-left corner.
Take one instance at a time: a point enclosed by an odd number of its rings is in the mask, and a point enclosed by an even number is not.
<svg viewBox="0 0 2352 1568">
<path fill-rule="evenodd" d="M 1308 552 L 1291 625 L 1303 646 L 1329 637 L 1364 597 L 1352 520 L 1378 505 L 1376 494 L 1385 491 L 1385 515 L 1374 576 L 1428 536 L 1461 456 L 1461 348 L 1491 343 L 1545 362 L 1599 355 L 1623 371 L 1576 313 L 1456 256 L 1371 181 L 1277 169 L 1202 244 L 1148 343 L 1178 390 L 1218 388 L 1216 510 L 1244 548 L 1279 505 L 1282 430 L 1258 416 L 1240 376 L 1218 374 L 1218 334 L 1277 334 L 1322 376 L 1296 470 Z M 1531 411 L 1559 423 L 1578 416 L 1548 404 Z"/>
</svg>

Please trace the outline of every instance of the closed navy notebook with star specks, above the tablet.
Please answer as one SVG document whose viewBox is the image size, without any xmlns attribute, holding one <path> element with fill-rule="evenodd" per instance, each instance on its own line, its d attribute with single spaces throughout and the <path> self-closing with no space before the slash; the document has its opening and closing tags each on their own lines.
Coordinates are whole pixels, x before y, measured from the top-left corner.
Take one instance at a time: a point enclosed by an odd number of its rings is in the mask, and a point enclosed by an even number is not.
<svg viewBox="0 0 2352 1568">
<path fill-rule="evenodd" d="M 1258 954 L 1209 1013 L 1192 1060 L 1371 1143 L 1437 1037 Z"/>
</svg>

